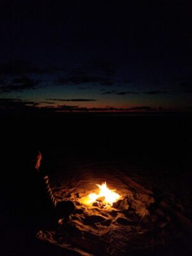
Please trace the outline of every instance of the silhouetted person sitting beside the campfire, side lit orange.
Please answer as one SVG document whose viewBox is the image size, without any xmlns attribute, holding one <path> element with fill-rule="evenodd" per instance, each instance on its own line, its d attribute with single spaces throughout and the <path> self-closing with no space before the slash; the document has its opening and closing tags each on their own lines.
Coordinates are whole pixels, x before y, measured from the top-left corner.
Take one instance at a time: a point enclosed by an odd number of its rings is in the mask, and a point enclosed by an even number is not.
<svg viewBox="0 0 192 256">
<path fill-rule="evenodd" d="M 59 219 L 67 218 L 75 208 L 70 201 L 57 202 L 49 185 L 49 177 L 39 169 L 41 160 L 41 152 L 35 151 L 26 170 L 28 202 L 25 204 L 25 225 L 31 227 L 31 234 L 54 227 Z"/>
</svg>

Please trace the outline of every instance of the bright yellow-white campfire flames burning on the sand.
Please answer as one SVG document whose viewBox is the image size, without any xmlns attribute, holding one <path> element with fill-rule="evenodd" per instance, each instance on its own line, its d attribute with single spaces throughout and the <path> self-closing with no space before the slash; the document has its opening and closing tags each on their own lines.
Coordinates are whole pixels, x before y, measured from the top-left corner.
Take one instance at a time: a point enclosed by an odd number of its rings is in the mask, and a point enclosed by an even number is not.
<svg viewBox="0 0 192 256">
<path fill-rule="evenodd" d="M 88 196 L 84 196 L 80 200 L 82 204 L 92 205 L 99 200 L 99 202 L 101 201 L 104 205 L 112 206 L 114 202 L 122 197 L 115 193 L 116 189 L 109 189 L 106 182 L 104 182 L 102 185 L 97 184 L 97 186 L 99 187 L 99 193 L 91 193 Z"/>
</svg>

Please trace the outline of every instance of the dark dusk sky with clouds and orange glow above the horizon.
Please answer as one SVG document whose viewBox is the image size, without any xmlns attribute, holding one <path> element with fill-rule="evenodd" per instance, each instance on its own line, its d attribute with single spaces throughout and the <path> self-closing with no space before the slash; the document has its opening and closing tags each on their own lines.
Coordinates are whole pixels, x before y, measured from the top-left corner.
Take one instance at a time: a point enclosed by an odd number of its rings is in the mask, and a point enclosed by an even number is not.
<svg viewBox="0 0 192 256">
<path fill-rule="evenodd" d="M 191 111 L 191 6 L 1 1 L 1 113 Z"/>
</svg>

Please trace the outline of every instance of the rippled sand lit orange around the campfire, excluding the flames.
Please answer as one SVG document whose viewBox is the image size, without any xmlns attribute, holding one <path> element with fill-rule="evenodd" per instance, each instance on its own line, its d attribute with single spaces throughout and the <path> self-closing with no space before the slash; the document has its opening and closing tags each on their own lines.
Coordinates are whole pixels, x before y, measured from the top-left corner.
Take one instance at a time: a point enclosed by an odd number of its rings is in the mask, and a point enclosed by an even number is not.
<svg viewBox="0 0 192 256">
<path fill-rule="evenodd" d="M 81 198 L 97 193 L 96 184 L 104 180 L 122 196 L 120 200 L 112 207 L 81 204 Z M 147 188 L 141 185 L 143 182 Z M 182 216 L 182 205 L 175 196 L 165 195 L 161 203 L 157 202 L 159 195 L 142 177 L 125 175 L 113 164 L 57 173 L 52 177 L 52 189 L 56 198 L 74 202 L 76 211 L 70 220 L 60 221 L 55 230 L 39 232 L 38 239 L 74 255 L 156 253 L 159 246 L 172 243 L 173 237 L 180 239 L 184 232 L 175 224 L 174 212 Z M 183 218 L 180 219 L 182 223 Z"/>
</svg>

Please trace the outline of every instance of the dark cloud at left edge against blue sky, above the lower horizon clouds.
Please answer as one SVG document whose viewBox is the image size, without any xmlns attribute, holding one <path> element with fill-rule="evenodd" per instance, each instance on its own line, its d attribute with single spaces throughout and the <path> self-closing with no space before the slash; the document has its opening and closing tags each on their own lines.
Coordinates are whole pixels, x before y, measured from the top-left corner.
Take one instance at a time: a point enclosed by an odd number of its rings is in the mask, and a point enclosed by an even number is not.
<svg viewBox="0 0 192 256">
<path fill-rule="evenodd" d="M 15 77 L 10 83 L 0 86 L 0 93 L 23 92 L 28 89 L 35 89 L 39 83 L 40 81 L 27 76 Z"/>
</svg>

